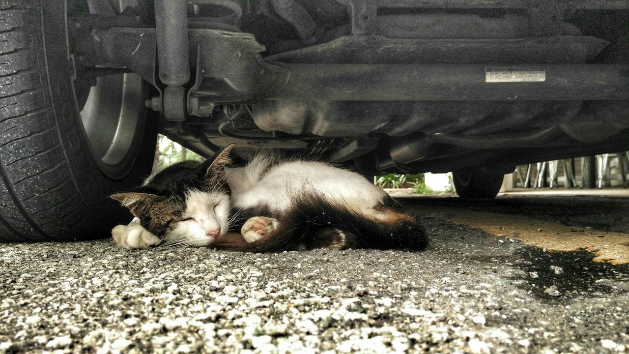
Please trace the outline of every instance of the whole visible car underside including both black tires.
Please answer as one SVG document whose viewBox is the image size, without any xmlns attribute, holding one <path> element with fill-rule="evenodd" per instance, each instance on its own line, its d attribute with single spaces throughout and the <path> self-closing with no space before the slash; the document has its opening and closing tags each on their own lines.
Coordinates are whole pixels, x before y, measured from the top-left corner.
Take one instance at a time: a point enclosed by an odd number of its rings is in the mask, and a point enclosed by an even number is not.
<svg viewBox="0 0 629 354">
<path fill-rule="evenodd" d="M 103 200 L 150 173 L 158 132 L 202 156 L 235 142 L 365 176 L 453 171 L 465 197 L 494 197 L 517 164 L 629 150 L 625 0 L 6 0 L 0 15 L 0 239 L 106 236 L 128 215 Z"/>
</svg>

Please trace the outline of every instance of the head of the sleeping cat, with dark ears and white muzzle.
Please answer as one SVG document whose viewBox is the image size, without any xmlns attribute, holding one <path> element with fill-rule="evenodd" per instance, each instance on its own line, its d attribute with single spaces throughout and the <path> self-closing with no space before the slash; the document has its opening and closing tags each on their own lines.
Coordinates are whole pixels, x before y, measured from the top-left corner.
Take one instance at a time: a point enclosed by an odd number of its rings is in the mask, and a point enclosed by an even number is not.
<svg viewBox="0 0 629 354">
<path fill-rule="evenodd" d="M 149 181 L 136 191 L 111 198 L 128 207 L 147 231 L 160 237 L 161 245 L 210 246 L 229 229 L 231 201 L 224 166 L 230 149 L 214 159 L 205 175 L 197 176 L 185 165 L 172 166 L 153 178 L 169 188 L 146 193 L 155 188 Z"/>
</svg>

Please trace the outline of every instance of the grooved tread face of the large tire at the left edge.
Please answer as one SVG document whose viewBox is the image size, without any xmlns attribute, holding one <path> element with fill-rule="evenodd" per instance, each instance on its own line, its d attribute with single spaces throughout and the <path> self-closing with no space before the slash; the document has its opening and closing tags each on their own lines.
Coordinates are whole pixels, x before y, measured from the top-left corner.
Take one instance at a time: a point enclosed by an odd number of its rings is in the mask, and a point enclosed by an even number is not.
<svg viewBox="0 0 629 354">
<path fill-rule="evenodd" d="M 68 188 L 36 5 L 0 3 L 0 237 L 9 241 L 53 239 L 87 217 Z"/>
</svg>

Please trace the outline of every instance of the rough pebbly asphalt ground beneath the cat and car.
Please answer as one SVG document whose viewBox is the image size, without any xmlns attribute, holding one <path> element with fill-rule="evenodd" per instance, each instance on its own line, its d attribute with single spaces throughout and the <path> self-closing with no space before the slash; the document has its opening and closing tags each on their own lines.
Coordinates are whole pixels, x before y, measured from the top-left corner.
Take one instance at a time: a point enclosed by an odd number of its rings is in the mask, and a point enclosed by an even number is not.
<svg viewBox="0 0 629 354">
<path fill-rule="evenodd" d="M 403 202 L 426 251 L 0 244 L 0 353 L 629 351 L 629 198 Z"/>
</svg>

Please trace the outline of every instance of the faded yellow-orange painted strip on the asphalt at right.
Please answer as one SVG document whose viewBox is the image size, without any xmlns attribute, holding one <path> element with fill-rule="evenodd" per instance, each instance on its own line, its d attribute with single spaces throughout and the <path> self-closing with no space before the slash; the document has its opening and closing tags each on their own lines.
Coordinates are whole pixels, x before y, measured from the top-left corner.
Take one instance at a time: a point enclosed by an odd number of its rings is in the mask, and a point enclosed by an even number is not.
<svg viewBox="0 0 629 354">
<path fill-rule="evenodd" d="M 547 251 L 580 251 L 594 253 L 593 261 L 612 265 L 629 263 L 629 234 L 606 232 L 584 227 L 565 226 L 559 222 L 534 219 L 525 215 L 447 208 L 416 207 L 424 215 L 438 213 L 438 217 L 467 227 L 482 229 L 497 237 L 517 239 L 524 244 Z"/>
</svg>

